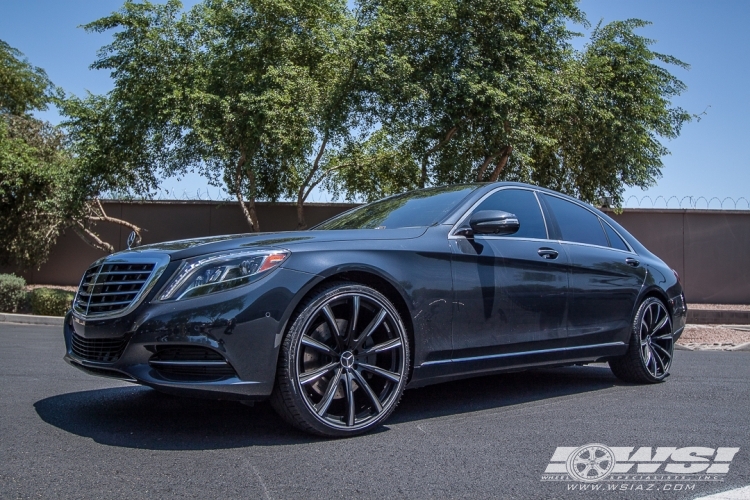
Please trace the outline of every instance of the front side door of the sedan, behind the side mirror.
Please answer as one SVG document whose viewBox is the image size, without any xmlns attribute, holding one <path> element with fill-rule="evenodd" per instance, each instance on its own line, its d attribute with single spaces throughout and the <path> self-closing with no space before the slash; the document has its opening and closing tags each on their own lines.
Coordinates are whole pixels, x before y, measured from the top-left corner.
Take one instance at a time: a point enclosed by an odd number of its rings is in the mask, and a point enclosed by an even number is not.
<svg viewBox="0 0 750 500">
<path fill-rule="evenodd" d="M 471 213 L 515 214 L 510 236 L 452 236 L 454 286 L 453 359 L 512 356 L 565 345 L 567 253 L 549 238 L 535 191 L 500 188 Z M 470 214 L 463 224 L 468 225 Z"/>
</svg>

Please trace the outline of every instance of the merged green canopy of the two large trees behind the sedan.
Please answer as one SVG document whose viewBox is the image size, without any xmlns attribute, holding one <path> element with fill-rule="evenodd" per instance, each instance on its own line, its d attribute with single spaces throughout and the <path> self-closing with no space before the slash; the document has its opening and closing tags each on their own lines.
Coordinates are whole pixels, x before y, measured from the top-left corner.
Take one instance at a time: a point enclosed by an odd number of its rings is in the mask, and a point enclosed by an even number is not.
<svg viewBox="0 0 750 500">
<path fill-rule="evenodd" d="M 575 24 L 576 0 L 128 0 L 86 26 L 112 31 L 92 67 L 114 89 L 63 106 L 92 188 L 78 199 L 197 170 L 253 230 L 256 200 L 279 198 L 305 227 L 316 186 L 370 200 L 521 180 L 617 205 L 690 119 L 666 69 L 686 66 L 643 21 L 597 26 L 580 51 Z"/>
</svg>

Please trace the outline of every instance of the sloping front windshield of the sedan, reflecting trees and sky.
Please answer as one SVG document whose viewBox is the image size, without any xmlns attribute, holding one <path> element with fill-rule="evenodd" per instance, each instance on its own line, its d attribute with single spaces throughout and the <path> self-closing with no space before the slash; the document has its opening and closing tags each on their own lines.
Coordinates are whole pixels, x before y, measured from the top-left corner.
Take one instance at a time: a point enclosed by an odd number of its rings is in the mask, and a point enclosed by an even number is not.
<svg viewBox="0 0 750 500">
<path fill-rule="evenodd" d="M 329 219 L 313 229 L 398 229 L 431 226 L 445 217 L 474 184 L 456 184 L 397 194 Z"/>
</svg>

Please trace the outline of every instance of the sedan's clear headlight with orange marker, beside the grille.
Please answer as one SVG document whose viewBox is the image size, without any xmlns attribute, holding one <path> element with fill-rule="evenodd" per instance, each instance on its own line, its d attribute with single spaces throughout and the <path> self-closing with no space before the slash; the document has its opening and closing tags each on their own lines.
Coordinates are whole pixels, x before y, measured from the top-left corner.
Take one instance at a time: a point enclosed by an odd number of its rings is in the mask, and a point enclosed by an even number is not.
<svg viewBox="0 0 750 500">
<path fill-rule="evenodd" d="M 159 300 L 180 300 L 250 283 L 289 256 L 287 250 L 237 250 L 185 260 Z"/>
</svg>

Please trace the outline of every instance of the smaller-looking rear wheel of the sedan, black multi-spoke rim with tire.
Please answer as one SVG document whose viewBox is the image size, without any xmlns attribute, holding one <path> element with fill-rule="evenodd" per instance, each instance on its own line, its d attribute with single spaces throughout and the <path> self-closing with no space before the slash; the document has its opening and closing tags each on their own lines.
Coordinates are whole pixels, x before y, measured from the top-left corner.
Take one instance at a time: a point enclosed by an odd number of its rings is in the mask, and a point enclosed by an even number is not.
<svg viewBox="0 0 750 500">
<path fill-rule="evenodd" d="M 649 297 L 635 315 L 628 352 L 609 366 L 627 382 L 660 382 L 669 374 L 673 354 L 672 318 L 659 299 Z"/>
</svg>

